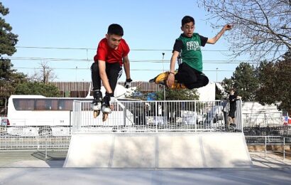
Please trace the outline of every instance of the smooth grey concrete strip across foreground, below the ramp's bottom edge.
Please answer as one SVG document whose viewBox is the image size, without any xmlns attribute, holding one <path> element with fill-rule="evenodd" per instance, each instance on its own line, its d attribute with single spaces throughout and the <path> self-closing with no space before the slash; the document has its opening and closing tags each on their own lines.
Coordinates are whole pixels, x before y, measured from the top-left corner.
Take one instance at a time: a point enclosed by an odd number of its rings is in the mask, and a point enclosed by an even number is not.
<svg viewBox="0 0 291 185">
<path fill-rule="evenodd" d="M 290 184 L 290 169 L 0 169 L 0 184 Z"/>
</svg>

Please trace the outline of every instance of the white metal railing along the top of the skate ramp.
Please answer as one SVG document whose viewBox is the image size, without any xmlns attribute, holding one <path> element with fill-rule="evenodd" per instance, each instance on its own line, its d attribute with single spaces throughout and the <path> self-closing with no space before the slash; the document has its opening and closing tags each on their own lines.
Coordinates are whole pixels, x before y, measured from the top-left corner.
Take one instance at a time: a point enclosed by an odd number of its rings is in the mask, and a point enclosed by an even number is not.
<svg viewBox="0 0 291 185">
<path fill-rule="evenodd" d="M 72 132 L 227 131 L 224 101 L 117 101 L 102 122 L 93 117 L 92 101 L 73 102 Z M 239 107 L 239 106 L 238 106 Z M 242 131 L 237 109 L 236 130 Z"/>
</svg>

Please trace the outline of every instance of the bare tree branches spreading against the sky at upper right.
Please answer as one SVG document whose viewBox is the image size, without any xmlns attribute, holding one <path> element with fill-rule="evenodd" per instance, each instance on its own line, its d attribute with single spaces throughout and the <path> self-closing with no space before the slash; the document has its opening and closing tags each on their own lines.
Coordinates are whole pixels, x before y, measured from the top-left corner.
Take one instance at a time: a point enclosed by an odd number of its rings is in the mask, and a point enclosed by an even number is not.
<svg viewBox="0 0 291 185">
<path fill-rule="evenodd" d="M 225 38 L 234 58 L 276 60 L 291 51 L 291 0 L 197 0 L 213 28 L 233 23 Z M 221 23 L 221 25 L 218 25 Z"/>
</svg>

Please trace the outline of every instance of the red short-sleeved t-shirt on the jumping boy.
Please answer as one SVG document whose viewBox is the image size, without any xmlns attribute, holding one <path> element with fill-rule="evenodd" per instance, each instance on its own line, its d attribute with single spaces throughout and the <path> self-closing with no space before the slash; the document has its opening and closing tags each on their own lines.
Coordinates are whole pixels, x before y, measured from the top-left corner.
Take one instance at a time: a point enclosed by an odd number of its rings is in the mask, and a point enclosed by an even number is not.
<svg viewBox="0 0 291 185">
<path fill-rule="evenodd" d="M 121 38 L 119 47 L 115 50 L 110 48 L 107 43 L 107 38 L 103 38 L 98 45 L 97 54 L 94 56 L 94 61 L 104 60 L 107 63 L 119 63 L 122 65 L 122 58 L 129 53 L 129 47 L 126 41 Z"/>
</svg>

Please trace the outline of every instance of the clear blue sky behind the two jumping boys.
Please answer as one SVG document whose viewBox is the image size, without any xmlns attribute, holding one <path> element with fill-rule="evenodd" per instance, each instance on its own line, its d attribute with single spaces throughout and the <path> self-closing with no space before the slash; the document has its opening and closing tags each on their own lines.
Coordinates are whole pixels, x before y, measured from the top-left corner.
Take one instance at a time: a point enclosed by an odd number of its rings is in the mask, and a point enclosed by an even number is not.
<svg viewBox="0 0 291 185">
<path fill-rule="evenodd" d="M 163 72 L 163 68 L 169 70 L 172 46 L 180 36 L 183 16 L 195 18 L 194 32 L 202 36 L 212 38 L 220 31 L 210 27 L 205 21 L 206 13 L 195 5 L 194 0 L 1 2 L 10 11 L 4 17 L 6 22 L 13 27 L 13 33 L 18 34 L 17 52 L 11 58 L 13 68 L 31 75 L 35 70 L 38 71 L 42 61 L 47 61 L 57 75 L 55 81 L 91 81 L 89 67 L 97 45 L 111 23 L 123 26 L 123 38 L 131 48 L 128 55 L 131 60 L 131 78 L 143 81 Z M 238 65 L 231 62 L 217 63 L 219 60 L 229 60 L 225 55 L 228 52 L 221 52 L 228 50 L 227 44 L 221 38 L 215 45 L 202 48 L 204 73 L 212 82 L 216 81 L 216 74 L 218 81 L 230 78 Z M 162 53 L 165 53 L 164 63 Z M 123 80 L 124 74 L 121 77 Z"/>
</svg>

